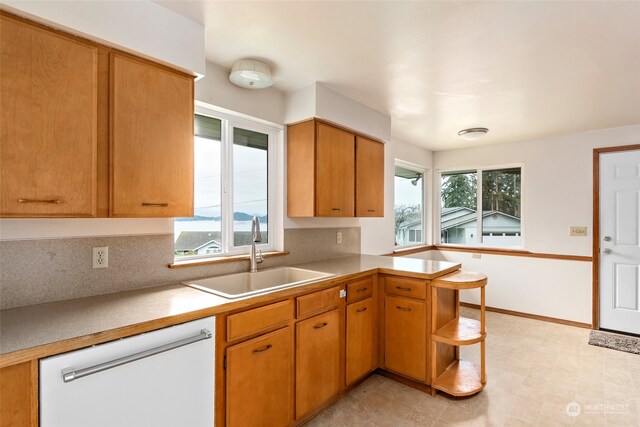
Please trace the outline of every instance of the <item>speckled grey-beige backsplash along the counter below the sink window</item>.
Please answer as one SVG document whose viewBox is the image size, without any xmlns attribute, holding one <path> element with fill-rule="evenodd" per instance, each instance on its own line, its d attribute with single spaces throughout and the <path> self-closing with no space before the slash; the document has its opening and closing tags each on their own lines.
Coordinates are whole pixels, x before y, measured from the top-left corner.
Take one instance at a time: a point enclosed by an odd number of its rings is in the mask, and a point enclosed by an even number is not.
<svg viewBox="0 0 640 427">
<path fill-rule="evenodd" d="M 336 232 L 342 244 L 336 244 Z M 109 267 L 93 269 L 92 248 L 109 247 Z M 360 228 L 284 230 L 289 255 L 259 268 L 360 253 Z M 0 308 L 13 308 L 247 271 L 249 261 L 169 269 L 173 234 L 0 242 Z"/>
</svg>

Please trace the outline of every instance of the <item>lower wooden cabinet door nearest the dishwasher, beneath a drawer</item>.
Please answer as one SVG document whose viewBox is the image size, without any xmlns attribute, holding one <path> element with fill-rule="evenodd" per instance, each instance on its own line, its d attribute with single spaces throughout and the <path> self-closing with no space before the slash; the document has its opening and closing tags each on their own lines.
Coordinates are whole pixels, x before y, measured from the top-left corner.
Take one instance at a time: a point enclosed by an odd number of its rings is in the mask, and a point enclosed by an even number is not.
<svg viewBox="0 0 640 427">
<path fill-rule="evenodd" d="M 291 423 L 291 328 L 227 349 L 227 426 Z"/>
</svg>

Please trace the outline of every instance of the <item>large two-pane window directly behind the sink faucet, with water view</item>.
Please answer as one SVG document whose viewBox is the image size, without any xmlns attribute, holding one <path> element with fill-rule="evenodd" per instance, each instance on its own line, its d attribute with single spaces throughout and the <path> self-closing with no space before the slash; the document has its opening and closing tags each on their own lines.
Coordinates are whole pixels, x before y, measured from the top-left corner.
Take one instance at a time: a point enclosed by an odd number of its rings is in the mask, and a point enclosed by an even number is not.
<svg viewBox="0 0 640 427">
<path fill-rule="evenodd" d="M 194 216 L 174 221 L 176 259 L 248 252 L 254 216 L 272 249 L 279 130 L 201 107 L 194 129 Z"/>
</svg>

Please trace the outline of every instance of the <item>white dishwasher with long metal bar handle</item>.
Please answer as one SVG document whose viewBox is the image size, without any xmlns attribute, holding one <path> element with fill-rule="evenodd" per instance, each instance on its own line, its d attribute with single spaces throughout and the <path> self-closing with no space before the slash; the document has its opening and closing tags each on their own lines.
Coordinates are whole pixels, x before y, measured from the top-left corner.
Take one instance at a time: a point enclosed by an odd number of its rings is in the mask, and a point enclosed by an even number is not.
<svg viewBox="0 0 640 427">
<path fill-rule="evenodd" d="M 215 318 L 40 361 L 41 427 L 211 427 Z"/>
</svg>

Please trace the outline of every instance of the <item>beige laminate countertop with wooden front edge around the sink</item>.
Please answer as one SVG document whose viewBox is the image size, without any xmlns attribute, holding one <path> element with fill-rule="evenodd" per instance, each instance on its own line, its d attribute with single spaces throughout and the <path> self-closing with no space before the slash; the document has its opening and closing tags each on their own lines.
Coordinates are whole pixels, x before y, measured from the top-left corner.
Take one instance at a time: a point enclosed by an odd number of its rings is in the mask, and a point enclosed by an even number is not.
<svg viewBox="0 0 640 427">
<path fill-rule="evenodd" d="M 286 298 L 358 275 L 380 272 L 433 279 L 460 264 L 357 255 L 296 267 L 335 277 L 235 300 L 175 284 L 0 310 L 0 367 Z"/>
</svg>

